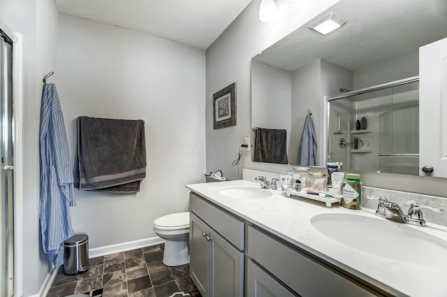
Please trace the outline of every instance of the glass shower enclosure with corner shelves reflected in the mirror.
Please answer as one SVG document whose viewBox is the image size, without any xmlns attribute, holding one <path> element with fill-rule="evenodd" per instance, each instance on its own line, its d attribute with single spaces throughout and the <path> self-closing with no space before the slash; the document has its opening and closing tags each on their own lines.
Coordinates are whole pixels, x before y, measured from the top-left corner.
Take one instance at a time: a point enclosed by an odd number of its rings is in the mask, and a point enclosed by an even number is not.
<svg viewBox="0 0 447 297">
<path fill-rule="evenodd" d="M 328 99 L 328 161 L 345 171 L 419 175 L 418 78 Z"/>
</svg>

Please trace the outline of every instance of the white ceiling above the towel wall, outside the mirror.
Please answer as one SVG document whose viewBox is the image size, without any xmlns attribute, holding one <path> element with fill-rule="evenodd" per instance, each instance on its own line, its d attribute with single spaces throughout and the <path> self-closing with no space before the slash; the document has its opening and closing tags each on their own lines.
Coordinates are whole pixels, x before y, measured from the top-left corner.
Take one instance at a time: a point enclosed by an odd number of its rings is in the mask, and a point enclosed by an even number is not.
<svg viewBox="0 0 447 297">
<path fill-rule="evenodd" d="M 54 0 L 61 13 L 206 50 L 251 0 Z"/>
</svg>

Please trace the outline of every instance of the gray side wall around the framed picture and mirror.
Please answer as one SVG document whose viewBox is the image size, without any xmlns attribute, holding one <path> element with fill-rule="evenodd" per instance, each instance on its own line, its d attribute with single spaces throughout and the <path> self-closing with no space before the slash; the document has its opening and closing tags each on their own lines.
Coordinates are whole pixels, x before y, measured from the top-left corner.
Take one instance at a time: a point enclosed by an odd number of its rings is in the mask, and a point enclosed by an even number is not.
<svg viewBox="0 0 447 297">
<path fill-rule="evenodd" d="M 221 169 L 228 178 L 237 178 L 237 166 L 231 163 L 244 138 L 251 135 L 251 58 L 337 2 L 277 1 L 277 20 L 265 24 L 258 19 L 261 1 L 254 0 L 207 49 L 207 171 Z M 232 82 L 237 85 L 237 125 L 214 130 L 212 94 Z M 240 167 L 278 172 L 288 168 L 251 162 L 250 154 L 244 154 Z"/>
</svg>

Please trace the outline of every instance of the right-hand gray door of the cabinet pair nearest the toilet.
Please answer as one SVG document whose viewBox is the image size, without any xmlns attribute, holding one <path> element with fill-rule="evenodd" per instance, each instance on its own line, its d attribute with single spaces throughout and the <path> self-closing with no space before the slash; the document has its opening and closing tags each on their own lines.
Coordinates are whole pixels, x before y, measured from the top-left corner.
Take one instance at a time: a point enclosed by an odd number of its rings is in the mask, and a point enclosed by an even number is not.
<svg viewBox="0 0 447 297">
<path fill-rule="evenodd" d="M 244 253 L 211 228 L 210 235 L 211 296 L 244 296 Z"/>
</svg>

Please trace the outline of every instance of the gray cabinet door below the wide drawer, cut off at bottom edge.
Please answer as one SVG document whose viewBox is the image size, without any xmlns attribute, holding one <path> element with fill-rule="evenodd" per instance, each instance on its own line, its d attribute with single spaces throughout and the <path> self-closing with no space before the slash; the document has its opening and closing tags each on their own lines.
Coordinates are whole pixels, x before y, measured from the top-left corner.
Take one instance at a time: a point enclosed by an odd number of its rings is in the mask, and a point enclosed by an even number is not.
<svg viewBox="0 0 447 297">
<path fill-rule="evenodd" d="M 282 284 L 256 266 L 251 260 L 247 266 L 248 297 L 295 297 Z"/>
</svg>

